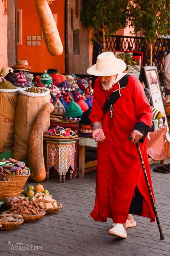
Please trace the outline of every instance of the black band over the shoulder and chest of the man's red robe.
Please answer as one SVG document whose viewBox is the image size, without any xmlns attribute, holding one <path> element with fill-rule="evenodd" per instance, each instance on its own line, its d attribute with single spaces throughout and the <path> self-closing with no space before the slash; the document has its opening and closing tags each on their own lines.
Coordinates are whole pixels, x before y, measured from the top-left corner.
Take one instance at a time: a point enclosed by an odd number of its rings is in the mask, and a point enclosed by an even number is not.
<svg viewBox="0 0 170 256">
<path fill-rule="evenodd" d="M 125 75 L 120 79 L 119 84 L 120 84 L 120 89 L 122 87 L 126 87 L 127 83 L 129 81 L 129 74 Z M 119 90 L 113 91 L 111 95 L 108 97 L 106 100 L 104 106 L 103 106 L 103 112 L 104 114 L 108 112 L 108 110 L 111 108 L 111 105 L 114 105 L 116 101 L 120 98 L 120 93 Z"/>
</svg>

